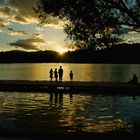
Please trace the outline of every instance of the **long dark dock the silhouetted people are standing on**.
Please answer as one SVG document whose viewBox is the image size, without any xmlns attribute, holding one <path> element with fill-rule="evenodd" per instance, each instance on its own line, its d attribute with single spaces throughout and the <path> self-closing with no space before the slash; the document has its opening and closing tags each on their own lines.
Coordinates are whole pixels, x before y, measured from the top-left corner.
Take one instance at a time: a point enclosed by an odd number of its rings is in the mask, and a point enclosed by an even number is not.
<svg viewBox="0 0 140 140">
<path fill-rule="evenodd" d="M 9 92 L 61 92 L 140 95 L 140 83 L 83 82 L 83 81 L 30 81 L 0 80 L 0 91 Z"/>
</svg>

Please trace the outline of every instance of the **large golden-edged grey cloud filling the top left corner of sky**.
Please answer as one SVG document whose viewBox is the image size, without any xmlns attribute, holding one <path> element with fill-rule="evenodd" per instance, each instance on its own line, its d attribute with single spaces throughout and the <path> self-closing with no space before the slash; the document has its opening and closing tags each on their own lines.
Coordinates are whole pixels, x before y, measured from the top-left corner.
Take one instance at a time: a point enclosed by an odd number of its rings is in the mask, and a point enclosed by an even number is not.
<svg viewBox="0 0 140 140">
<path fill-rule="evenodd" d="M 37 7 L 38 0 L 5 0 L 0 6 L 0 18 L 9 18 L 13 22 L 33 23 L 38 22 L 38 17 L 33 7 Z"/>
</svg>

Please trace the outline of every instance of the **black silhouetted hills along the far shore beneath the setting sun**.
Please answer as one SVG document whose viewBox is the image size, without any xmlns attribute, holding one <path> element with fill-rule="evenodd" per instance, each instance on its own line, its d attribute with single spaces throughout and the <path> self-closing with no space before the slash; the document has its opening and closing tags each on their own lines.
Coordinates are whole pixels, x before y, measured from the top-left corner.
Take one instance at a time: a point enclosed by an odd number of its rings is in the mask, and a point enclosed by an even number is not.
<svg viewBox="0 0 140 140">
<path fill-rule="evenodd" d="M 60 55 L 54 51 L 0 52 L 0 63 L 140 63 L 140 44 L 120 44 L 102 50 L 77 50 Z"/>
</svg>

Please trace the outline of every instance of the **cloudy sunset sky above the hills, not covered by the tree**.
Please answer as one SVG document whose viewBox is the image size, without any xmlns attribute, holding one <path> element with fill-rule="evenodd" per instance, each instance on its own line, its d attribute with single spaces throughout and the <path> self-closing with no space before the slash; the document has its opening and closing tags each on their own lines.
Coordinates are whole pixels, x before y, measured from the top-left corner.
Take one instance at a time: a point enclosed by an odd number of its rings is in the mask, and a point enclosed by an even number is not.
<svg viewBox="0 0 140 140">
<path fill-rule="evenodd" d="M 32 7 L 38 0 L 0 0 L 0 51 L 67 51 L 64 22 L 48 16 L 49 24 L 39 26 Z M 140 34 L 129 32 L 126 42 L 139 42 Z"/>
</svg>

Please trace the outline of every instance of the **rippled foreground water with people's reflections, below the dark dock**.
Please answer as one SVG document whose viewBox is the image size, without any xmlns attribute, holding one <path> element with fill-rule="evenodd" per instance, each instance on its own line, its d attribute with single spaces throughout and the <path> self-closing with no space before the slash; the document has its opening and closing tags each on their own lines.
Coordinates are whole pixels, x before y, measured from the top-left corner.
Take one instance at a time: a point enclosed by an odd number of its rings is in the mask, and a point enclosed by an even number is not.
<svg viewBox="0 0 140 140">
<path fill-rule="evenodd" d="M 133 131 L 140 97 L 69 93 L 0 93 L 0 129 L 27 132 Z"/>
</svg>

